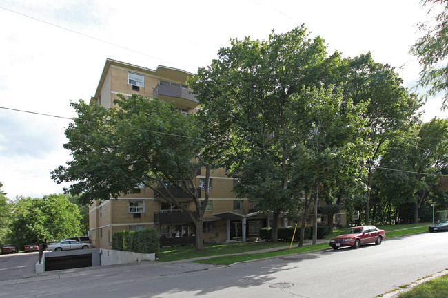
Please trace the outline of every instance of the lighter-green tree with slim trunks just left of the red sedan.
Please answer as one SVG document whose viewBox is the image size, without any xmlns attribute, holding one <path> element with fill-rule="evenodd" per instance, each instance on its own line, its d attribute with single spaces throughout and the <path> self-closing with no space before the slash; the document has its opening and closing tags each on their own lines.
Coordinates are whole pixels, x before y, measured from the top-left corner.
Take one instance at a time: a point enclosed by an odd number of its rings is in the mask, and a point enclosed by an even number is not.
<svg viewBox="0 0 448 298">
<path fill-rule="evenodd" d="M 365 120 L 360 115 L 365 107 L 344 100 L 340 90 L 335 94 L 332 89 L 305 89 L 296 97 L 292 110 L 301 117 L 296 123 L 300 129 L 292 148 L 294 175 L 289 187 L 305 193 L 303 218 L 309 205 L 314 206 L 313 244 L 317 239 L 319 199 L 331 202 L 341 184 L 347 189 L 363 189 L 359 177 L 365 159 Z M 304 230 L 303 221 L 301 232 Z"/>
</svg>

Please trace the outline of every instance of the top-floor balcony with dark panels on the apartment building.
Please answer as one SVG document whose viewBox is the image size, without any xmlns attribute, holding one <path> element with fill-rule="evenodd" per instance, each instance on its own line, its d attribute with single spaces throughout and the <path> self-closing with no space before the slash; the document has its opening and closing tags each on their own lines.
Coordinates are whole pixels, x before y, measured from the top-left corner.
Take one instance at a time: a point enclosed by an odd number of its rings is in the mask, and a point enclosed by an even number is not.
<svg viewBox="0 0 448 298">
<path fill-rule="evenodd" d="M 158 84 L 154 88 L 154 98 L 166 101 L 174 101 L 176 106 L 194 109 L 198 105 L 198 100 L 194 94 L 183 87 Z"/>
</svg>

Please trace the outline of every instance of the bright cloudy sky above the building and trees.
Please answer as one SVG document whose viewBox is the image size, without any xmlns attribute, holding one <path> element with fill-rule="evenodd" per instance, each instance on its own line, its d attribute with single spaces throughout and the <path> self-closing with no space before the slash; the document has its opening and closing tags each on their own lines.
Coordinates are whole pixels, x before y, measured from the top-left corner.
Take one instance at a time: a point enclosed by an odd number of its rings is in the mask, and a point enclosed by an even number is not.
<svg viewBox="0 0 448 298">
<path fill-rule="evenodd" d="M 409 49 L 428 19 L 419 0 L 0 0 L 1 190 L 42 198 L 68 186 L 50 171 L 70 160 L 70 103 L 90 101 L 106 58 L 196 73 L 230 39 L 268 39 L 305 24 L 329 53 L 371 52 L 411 88 L 421 67 Z M 447 118 L 441 106 L 442 96 L 430 98 L 422 120 Z"/>
</svg>

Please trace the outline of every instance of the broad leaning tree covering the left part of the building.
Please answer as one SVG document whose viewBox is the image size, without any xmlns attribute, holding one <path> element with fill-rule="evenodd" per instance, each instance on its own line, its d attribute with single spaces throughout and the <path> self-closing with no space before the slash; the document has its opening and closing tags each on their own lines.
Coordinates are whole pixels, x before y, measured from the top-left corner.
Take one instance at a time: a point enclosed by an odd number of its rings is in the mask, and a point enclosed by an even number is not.
<svg viewBox="0 0 448 298">
<path fill-rule="evenodd" d="M 185 211 L 196 226 L 196 249 L 203 251 L 203 213 L 208 202 L 210 169 L 201 157 L 204 144 L 196 116 L 183 116 L 171 103 L 134 94 L 119 94 L 115 107 L 72 103 L 78 117 L 65 130 L 72 152 L 68 167 L 52 171 L 57 182 L 76 182 L 65 191 L 81 204 L 132 193 L 136 184 L 154 191 Z M 206 169 L 205 198 L 194 184 L 198 169 Z M 176 200 L 179 189 L 196 206 Z"/>
</svg>

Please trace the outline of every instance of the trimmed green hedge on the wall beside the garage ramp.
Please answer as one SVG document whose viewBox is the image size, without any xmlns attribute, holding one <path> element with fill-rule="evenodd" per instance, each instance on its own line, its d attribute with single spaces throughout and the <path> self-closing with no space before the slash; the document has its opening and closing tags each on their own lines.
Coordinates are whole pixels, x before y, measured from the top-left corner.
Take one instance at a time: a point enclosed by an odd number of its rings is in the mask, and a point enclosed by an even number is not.
<svg viewBox="0 0 448 298">
<path fill-rule="evenodd" d="M 112 234 L 112 249 L 134 253 L 159 253 L 159 234 L 154 228 L 142 231 L 119 231 Z"/>
</svg>

